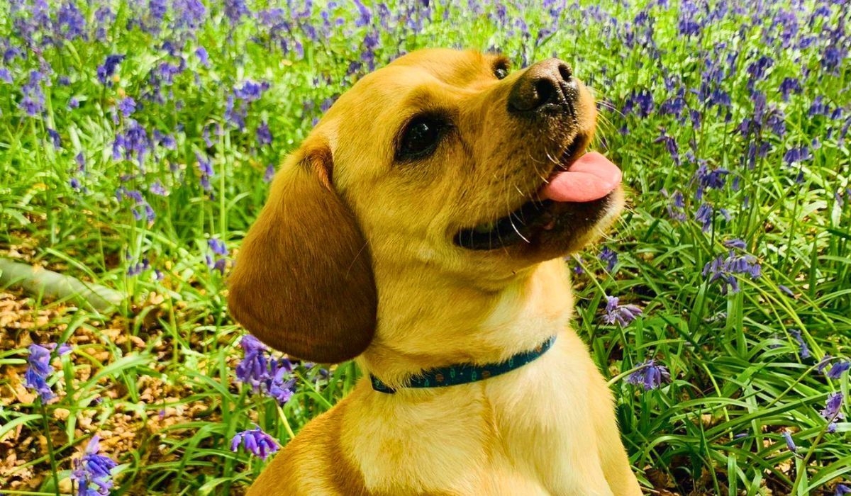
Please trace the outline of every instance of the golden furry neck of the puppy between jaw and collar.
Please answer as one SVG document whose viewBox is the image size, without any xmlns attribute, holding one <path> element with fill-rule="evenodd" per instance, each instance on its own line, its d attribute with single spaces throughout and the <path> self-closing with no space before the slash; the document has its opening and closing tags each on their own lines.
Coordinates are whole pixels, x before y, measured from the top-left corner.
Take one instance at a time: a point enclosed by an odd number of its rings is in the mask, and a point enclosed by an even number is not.
<svg viewBox="0 0 851 496">
<path fill-rule="evenodd" d="M 422 288 L 418 301 L 401 296 L 409 290 L 395 290 L 414 281 Z M 393 272 L 380 282 L 379 328 L 358 364 L 391 387 L 423 370 L 502 362 L 533 349 L 568 327 L 573 307 L 561 259 L 518 274 L 499 291 L 460 286 L 433 271 Z"/>
</svg>

